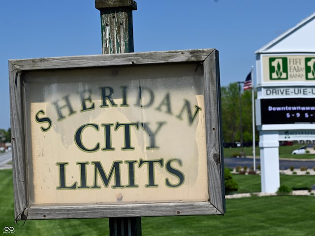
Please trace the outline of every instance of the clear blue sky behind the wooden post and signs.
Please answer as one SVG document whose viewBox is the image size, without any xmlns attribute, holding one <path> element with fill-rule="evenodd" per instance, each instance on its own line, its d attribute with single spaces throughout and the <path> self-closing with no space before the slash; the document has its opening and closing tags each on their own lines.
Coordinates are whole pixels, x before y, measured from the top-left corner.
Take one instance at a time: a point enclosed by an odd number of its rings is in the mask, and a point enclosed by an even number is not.
<svg viewBox="0 0 315 236">
<path fill-rule="evenodd" d="M 315 12 L 314 0 L 136 0 L 134 51 L 216 48 L 221 86 L 244 81 L 254 52 Z M 3 0 L 0 128 L 10 127 L 8 59 L 101 54 L 95 0 Z"/>
</svg>

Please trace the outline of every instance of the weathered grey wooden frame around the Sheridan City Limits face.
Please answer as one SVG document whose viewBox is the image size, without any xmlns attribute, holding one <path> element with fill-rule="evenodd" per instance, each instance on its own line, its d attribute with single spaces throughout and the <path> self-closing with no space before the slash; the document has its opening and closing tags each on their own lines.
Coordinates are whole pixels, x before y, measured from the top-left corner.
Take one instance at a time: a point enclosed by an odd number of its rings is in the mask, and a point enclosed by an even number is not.
<svg viewBox="0 0 315 236">
<path fill-rule="evenodd" d="M 198 64 L 203 70 L 209 200 L 139 204 L 39 204 L 29 200 L 27 168 L 28 123 L 24 75 L 33 71 L 106 68 L 115 66 Z M 45 78 L 43 78 L 45 80 Z M 225 212 L 221 149 L 219 53 L 215 49 L 9 60 L 11 135 L 15 219 L 107 218 L 135 216 L 220 215 Z"/>
</svg>

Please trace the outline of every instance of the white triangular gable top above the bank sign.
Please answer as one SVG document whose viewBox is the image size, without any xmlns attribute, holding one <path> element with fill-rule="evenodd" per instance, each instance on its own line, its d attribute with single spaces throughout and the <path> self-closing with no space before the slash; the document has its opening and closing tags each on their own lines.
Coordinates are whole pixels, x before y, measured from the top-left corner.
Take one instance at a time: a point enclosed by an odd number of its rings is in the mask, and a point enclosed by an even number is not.
<svg viewBox="0 0 315 236">
<path fill-rule="evenodd" d="M 315 12 L 255 52 L 263 53 L 315 53 Z"/>
</svg>

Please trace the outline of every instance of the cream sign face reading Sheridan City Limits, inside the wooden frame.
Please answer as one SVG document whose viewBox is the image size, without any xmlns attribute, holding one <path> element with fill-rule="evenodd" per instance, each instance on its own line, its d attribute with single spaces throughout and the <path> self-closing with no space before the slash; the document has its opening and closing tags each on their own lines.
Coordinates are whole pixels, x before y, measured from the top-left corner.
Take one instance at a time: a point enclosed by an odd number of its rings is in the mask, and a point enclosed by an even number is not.
<svg viewBox="0 0 315 236">
<path fill-rule="evenodd" d="M 32 204 L 207 201 L 203 71 L 169 69 L 28 73 Z"/>
</svg>

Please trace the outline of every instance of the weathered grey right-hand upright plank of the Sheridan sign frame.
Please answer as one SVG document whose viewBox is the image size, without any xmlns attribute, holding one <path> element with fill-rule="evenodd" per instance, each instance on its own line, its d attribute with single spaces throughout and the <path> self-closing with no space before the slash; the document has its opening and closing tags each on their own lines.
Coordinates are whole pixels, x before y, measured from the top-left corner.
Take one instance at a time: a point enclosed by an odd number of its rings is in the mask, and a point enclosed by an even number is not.
<svg viewBox="0 0 315 236">
<path fill-rule="evenodd" d="M 220 72 L 219 53 L 213 51 L 204 61 L 204 93 L 206 112 L 208 183 L 210 202 L 222 213 L 224 206 L 224 179 L 222 175 L 223 157 L 220 150 L 221 137 L 221 99 L 220 99 Z M 207 98 L 210 99 L 207 99 Z M 221 189 L 221 191 L 212 191 Z"/>
</svg>

